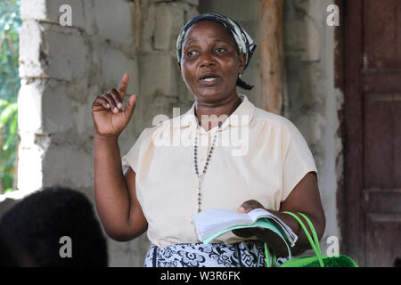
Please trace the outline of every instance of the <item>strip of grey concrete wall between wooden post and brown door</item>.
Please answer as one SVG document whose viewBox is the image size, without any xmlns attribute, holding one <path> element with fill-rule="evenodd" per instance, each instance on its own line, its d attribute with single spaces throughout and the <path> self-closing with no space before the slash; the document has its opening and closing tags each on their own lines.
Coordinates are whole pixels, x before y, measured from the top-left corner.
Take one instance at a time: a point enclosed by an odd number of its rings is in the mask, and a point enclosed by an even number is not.
<svg viewBox="0 0 401 285">
<path fill-rule="evenodd" d="M 343 173 L 342 144 L 337 133 L 343 94 L 334 87 L 335 27 L 326 24 L 326 8 L 332 1 L 284 3 L 284 116 L 299 127 L 315 157 L 326 214 L 321 241 L 324 250 L 329 236 L 340 239 L 336 192 Z"/>
</svg>

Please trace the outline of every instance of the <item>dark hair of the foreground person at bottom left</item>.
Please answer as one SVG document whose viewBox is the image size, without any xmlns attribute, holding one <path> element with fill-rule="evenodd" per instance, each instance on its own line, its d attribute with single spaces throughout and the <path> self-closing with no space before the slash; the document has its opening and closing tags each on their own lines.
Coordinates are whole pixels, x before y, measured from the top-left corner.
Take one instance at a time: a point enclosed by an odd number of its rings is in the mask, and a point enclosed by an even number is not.
<svg viewBox="0 0 401 285">
<path fill-rule="evenodd" d="M 86 196 L 65 187 L 37 191 L 0 220 L 7 235 L 37 266 L 107 266 L 107 243 Z M 71 241 L 72 256 L 61 257 L 61 237 Z"/>
</svg>

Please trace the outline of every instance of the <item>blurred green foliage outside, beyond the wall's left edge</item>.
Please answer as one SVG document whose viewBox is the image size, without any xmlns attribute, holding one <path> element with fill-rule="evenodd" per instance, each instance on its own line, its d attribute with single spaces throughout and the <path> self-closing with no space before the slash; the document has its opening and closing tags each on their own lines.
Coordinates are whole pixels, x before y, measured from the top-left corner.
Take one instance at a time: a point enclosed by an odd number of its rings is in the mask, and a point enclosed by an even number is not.
<svg viewBox="0 0 401 285">
<path fill-rule="evenodd" d="M 13 190 L 18 134 L 20 0 L 0 0 L 0 180 Z"/>
</svg>

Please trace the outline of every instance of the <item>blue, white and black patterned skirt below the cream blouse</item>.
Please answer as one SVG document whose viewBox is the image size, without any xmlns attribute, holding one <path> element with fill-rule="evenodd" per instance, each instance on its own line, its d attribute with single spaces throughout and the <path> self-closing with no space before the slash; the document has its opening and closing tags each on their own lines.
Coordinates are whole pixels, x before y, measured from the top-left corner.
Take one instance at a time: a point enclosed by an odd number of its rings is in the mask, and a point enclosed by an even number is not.
<svg viewBox="0 0 401 285">
<path fill-rule="evenodd" d="M 277 258 L 277 265 L 287 258 Z M 179 243 L 159 248 L 151 244 L 145 267 L 266 267 L 265 246 L 257 240 L 226 243 Z"/>
</svg>

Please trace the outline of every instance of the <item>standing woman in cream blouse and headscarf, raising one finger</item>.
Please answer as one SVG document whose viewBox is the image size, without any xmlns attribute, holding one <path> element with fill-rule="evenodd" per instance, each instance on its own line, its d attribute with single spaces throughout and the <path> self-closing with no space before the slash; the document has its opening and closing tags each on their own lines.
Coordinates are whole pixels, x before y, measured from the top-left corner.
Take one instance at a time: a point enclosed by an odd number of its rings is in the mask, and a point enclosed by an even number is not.
<svg viewBox="0 0 401 285">
<path fill-rule="evenodd" d="M 282 211 L 305 213 L 319 239 L 323 236 L 317 170 L 307 142 L 291 121 L 237 94 L 236 85 L 249 87 L 240 77 L 255 47 L 225 16 L 190 20 L 177 39 L 177 60 L 195 102 L 178 119 L 143 130 L 123 158 L 124 174 L 118 138 L 136 101 L 136 95 L 129 97 L 123 110 L 128 75 L 118 89 L 95 98 L 96 207 L 114 240 L 135 239 L 147 230 L 151 248 L 145 266 L 265 266 L 264 242 L 283 256 L 279 262 L 285 260 L 285 245 L 262 229 L 228 232 L 201 244 L 192 216 L 210 208 L 240 213 L 266 208 L 298 235 L 292 255 L 309 243 L 296 220 Z M 241 151 L 238 144 L 222 142 L 226 134 L 239 133 L 246 146 Z M 159 143 L 171 134 L 192 143 Z"/>
</svg>

